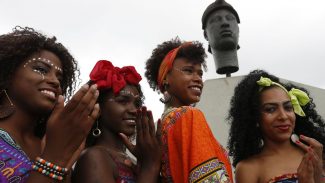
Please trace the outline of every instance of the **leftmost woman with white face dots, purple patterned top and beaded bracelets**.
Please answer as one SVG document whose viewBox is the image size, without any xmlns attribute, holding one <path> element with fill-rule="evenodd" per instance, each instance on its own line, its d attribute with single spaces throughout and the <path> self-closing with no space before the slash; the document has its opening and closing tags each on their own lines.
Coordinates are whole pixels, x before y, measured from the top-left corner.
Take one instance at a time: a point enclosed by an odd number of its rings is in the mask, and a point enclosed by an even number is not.
<svg viewBox="0 0 325 183">
<path fill-rule="evenodd" d="M 75 71 L 55 37 L 21 27 L 0 36 L 1 183 L 69 181 L 73 153 L 99 112 L 96 86 L 83 86 L 64 106 Z"/>
</svg>

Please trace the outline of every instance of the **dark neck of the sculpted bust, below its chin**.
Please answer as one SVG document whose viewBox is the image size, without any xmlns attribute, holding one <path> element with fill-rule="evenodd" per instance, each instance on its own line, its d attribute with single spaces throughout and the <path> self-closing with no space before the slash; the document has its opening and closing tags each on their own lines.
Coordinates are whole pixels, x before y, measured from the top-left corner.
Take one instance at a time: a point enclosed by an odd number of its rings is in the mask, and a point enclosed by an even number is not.
<svg viewBox="0 0 325 183">
<path fill-rule="evenodd" d="M 228 73 L 233 73 L 238 70 L 237 50 L 215 50 L 211 49 L 214 63 L 218 74 L 225 74 L 224 70 L 231 70 Z M 227 73 L 227 72 L 226 72 Z"/>
</svg>

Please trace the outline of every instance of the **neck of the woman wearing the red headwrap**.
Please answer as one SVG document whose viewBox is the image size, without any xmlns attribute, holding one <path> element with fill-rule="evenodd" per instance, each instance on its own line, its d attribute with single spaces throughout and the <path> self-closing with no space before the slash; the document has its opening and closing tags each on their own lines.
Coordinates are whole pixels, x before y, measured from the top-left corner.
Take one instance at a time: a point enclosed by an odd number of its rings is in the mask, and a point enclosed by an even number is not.
<svg viewBox="0 0 325 183">
<path fill-rule="evenodd" d="M 107 149 L 115 150 L 117 152 L 126 151 L 122 138 L 118 134 L 113 133 L 108 129 L 102 130 L 102 135 L 96 141 L 95 145 L 103 146 Z"/>
</svg>

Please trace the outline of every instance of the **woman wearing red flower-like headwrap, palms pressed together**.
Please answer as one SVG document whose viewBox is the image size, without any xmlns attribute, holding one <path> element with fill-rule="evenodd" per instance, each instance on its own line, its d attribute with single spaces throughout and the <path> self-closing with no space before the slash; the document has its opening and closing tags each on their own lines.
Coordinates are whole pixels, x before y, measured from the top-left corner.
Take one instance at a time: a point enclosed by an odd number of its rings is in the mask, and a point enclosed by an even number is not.
<svg viewBox="0 0 325 183">
<path fill-rule="evenodd" d="M 87 137 L 88 148 L 75 166 L 73 182 L 158 182 L 159 134 L 155 133 L 151 111 L 142 107 L 140 81 L 133 66 L 114 67 L 106 60 L 98 61 L 91 71 L 90 83 L 97 84 L 101 114 Z M 126 141 L 135 131 L 133 146 Z M 137 157 L 137 166 L 124 143 Z"/>
</svg>

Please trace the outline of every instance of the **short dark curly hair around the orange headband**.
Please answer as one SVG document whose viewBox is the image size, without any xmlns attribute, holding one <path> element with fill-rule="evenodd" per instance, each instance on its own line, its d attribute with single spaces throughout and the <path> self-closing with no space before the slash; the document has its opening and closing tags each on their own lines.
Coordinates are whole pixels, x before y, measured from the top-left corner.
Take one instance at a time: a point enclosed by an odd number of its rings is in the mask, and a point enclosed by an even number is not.
<svg viewBox="0 0 325 183">
<path fill-rule="evenodd" d="M 179 47 L 185 43 L 178 37 L 171 39 L 170 41 L 159 44 L 153 51 L 151 57 L 146 61 L 145 76 L 148 80 L 150 87 L 156 91 L 159 91 L 158 87 L 158 72 L 159 67 L 165 56 L 174 48 Z M 192 42 L 191 45 L 181 48 L 176 55 L 176 58 L 186 58 L 191 62 L 202 64 L 204 70 L 207 70 L 205 58 L 207 57 L 202 43 L 198 41 Z"/>
</svg>

